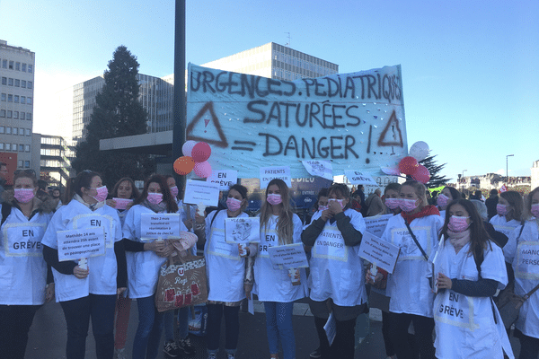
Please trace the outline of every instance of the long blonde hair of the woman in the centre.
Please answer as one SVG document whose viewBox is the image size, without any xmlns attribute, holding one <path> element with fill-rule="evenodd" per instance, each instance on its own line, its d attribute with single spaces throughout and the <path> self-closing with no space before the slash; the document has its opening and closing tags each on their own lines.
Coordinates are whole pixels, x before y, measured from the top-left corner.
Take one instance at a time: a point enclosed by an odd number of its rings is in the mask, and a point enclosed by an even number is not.
<svg viewBox="0 0 539 359">
<path fill-rule="evenodd" d="M 268 203 L 268 188 L 276 185 L 279 189 L 282 202 L 278 206 L 282 206 L 280 215 L 277 220 L 277 234 L 278 244 L 290 244 L 292 243 L 292 235 L 294 234 L 294 212 L 292 206 L 290 206 L 290 195 L 287 184 L 283 180 L 274 179 L 270 180 L 268 187 L 266 188 L 266 197 L 261 206 L 261 229 L 267 229 L 270 215 L 273 214 L 272 206 Z"/>
</svg>

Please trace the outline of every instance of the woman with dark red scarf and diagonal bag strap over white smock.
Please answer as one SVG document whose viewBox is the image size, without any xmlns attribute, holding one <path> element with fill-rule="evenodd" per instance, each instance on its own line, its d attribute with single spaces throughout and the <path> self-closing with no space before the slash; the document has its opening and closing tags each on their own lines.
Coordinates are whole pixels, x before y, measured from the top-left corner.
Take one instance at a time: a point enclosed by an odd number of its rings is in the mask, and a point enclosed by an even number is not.
<svg viewBox="0 0 539 359">
<path fill-rule="evenodd" d="M 411 358 L 407 332 L 413 322 L 421 359 L 432 359 L 434 293 L 427 279 L 427 258 L 437 250 L 437 236 L 443 220 L 435 206 L 427 205 L 425 186 L 420 182 L 408 180 L 402 183 L 400 197 L 402 213 L 389 219 L 382 235 L 382 240 L 401 248 L 393 274 L 387 279 L 386 291 L 391 297 L 390 337 L 397 357 Z"/>
</svg>

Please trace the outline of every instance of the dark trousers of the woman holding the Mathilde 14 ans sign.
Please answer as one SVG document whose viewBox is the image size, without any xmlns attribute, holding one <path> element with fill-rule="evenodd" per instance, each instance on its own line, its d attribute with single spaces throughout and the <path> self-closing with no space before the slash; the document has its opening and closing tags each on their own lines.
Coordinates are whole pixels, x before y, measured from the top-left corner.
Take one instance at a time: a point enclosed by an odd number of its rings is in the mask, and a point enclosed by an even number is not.
<svg viewBox="0 0 539 359">
<path fill-rule="evenodd" d="M 84 358 L 90 318 L 95 338 L 95 356 L 98 359 L 110 359 L 114 355 L 116 295 L 89 294 L 60 304 L 66 316 L 67 359 Z"/>
</svg>

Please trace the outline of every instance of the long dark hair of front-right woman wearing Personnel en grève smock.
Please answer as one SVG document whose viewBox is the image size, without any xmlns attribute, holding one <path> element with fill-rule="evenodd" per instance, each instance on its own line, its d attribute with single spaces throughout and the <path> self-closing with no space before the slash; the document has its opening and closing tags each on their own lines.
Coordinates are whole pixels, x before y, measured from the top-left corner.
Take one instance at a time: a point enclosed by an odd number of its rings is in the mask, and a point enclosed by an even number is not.
<svg viewBox="0 0 539 359">
<path fill-rule="evenodd" d="M 440 238 L 444 237 L 444 241 L 449 238 L 447 235 L 447 224 L 449 224 L 449 218 L 451 218 L 449 212 L 451 207 L 455 205 L 463 206 L 466 212 L 468 212 L 468 215 L 470 215 L 470 251 L 468 253 L 473 254 L 475 258 L 478 258 L 478 256 L 482 256 L 483 250 L 488 248 L 491 249 L 489 233 L 485 230 L 481 215 L 479 215 L 479 212 L 477 212 L 477 209 L 469 200 L 459 198 L 449 202 L 449 205 L 447 205 L 446 208 L 446 220 L 442 227 L 442 231 L 440 232 Z"/>
</svg>

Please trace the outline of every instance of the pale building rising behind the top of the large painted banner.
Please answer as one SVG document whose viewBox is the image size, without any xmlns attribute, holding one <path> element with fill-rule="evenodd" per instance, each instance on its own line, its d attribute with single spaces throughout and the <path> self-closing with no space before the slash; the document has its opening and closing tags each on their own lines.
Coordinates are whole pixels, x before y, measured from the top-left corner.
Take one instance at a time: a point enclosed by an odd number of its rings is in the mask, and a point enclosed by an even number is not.
<svg viewBox="0 0 539 359">
<path fill-rule="evenodd" d="M 201 66 L 287 81 L 339 73 L 337 64 L 275 42 L 219 58 Z"/>
</svg>

